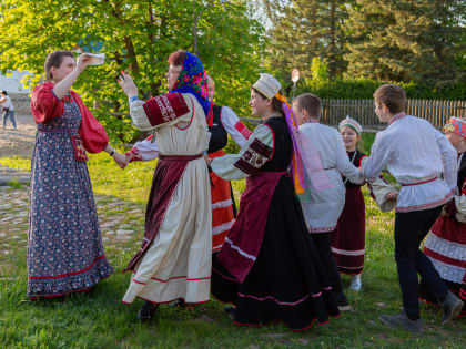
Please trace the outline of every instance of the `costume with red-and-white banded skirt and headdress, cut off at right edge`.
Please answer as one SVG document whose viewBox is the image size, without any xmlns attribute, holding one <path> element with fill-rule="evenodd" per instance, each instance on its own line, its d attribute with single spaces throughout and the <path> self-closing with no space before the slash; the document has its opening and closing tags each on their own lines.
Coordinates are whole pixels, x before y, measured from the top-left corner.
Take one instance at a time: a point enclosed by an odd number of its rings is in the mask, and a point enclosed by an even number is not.
<svg viewBox="0 0 466 349">
<path fill-rule="evenodd" d="M 452 117 L 445 130 L 466 138 L 466 123 Z M 466 300 L 466 156 L 458 154 L 458 195 L 445 206 L 424 243 L 424 254 L 434 264 L 444 283 L 452 292 Z M 432 304 L 438 304 L 435 296 L 422 279 L 419 295 Z M 460 317 L 466 317 L 463 307 Z"/>
</svg>

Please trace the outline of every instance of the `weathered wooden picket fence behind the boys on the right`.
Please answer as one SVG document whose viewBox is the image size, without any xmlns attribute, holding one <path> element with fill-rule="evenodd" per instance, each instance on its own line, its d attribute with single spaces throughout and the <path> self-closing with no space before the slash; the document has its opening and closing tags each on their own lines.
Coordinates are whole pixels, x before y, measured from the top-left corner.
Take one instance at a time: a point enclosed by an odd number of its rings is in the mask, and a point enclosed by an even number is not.
<svg viewBox="0 0 466 349">
<path fill-rule="evenodd" d="M 386 127 L 374 112 L 373 100 L 322 100 L 321 122 L 337 126 L 340 121 L 350 115 L 361 123 L 364 132 L 375 133 Z M 466 117 L 466 101 L 408 100 L 406 113 L 428 120 L 440 130 L 450 116 Z M 257 119 L 241 117 L 256 124 Z"/>
</svg>

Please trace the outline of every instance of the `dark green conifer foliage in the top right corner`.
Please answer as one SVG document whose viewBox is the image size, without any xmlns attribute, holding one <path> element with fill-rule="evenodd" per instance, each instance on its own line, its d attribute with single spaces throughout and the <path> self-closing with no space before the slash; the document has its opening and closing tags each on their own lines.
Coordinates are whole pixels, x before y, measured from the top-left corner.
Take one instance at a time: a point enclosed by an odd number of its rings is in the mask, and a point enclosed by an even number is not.
<svg viewBox="0 0 466 349">
<path fill-rule="evenodd" d="M 352 35 L 345 57 L 350 76 L 430 82 L 464 78 L 466 1 L 355 2 L 346 24 Z"/>
</svg>

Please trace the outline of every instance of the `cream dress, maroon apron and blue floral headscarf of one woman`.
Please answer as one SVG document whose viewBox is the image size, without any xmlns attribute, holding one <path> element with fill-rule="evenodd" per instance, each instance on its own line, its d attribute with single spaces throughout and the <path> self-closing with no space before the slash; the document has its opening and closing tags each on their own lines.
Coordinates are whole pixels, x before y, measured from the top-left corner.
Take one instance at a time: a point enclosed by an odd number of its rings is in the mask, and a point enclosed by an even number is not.
<svg viewBox="0 0 466 349">
<path fill-rule="evenodd" d="M 124 269 L 133 273 L 123 302 L 136 297 L 161 304 L 209 300 L 211 276 L 211 195 L 205 115 L 206 76 L 201 61 L 186 52 L 174 90 L 130 104 L 134 125 L 154 130 L 159 163 L 145 212 L 140 250 Z"/>
</svg>

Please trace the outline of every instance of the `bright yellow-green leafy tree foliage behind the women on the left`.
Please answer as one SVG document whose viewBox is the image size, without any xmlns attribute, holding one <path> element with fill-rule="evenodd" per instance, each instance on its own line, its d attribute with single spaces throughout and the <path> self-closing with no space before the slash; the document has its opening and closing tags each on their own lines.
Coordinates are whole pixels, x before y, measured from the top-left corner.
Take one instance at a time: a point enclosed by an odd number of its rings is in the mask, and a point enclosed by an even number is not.
<svg viewBox="0 0 466 349">
<path fill-rule="evenodd" d="M 263 25 L 246 0 L 197 0 L 196 33 L 201 60 L 217 86 L 219 104 L 249 113 L 249 86 L 257 76 L 264 44 Z M 31 72 L 39 83 L 49 52 L 101 45 L 102 66 L 90 66 L 73 86 L 94 110 L 111 135 L 130 141 L 136 131 L 125 96 L 116 83 L 121 70 L 133 75 L 140 94 L 166 92 L 169 54 L 193 51 L 192 0 L 0 0 L 0 70 Z"/>
</svg>

